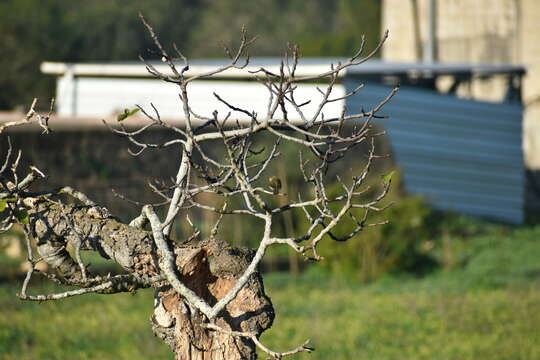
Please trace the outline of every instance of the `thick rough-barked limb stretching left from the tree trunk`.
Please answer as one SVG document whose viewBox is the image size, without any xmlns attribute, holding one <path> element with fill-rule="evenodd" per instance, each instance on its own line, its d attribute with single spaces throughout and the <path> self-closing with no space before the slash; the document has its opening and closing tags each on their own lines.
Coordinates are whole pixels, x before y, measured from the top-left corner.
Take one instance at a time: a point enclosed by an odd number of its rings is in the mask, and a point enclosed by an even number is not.
<svg viewBox="0 0 540 360">
<path fill-rule="evenodd" d="M 44 260 L 64 277 L 80 277 L 80 269 L 66 250 L 82 239 L 81 250 L 98 251 L 129 273 L 158 273 L 151 233 L 135 229 L 110 216 L 99 206 L 69 206 L 47 200 L 26 199 L 30 229 Z"/>
</svg>

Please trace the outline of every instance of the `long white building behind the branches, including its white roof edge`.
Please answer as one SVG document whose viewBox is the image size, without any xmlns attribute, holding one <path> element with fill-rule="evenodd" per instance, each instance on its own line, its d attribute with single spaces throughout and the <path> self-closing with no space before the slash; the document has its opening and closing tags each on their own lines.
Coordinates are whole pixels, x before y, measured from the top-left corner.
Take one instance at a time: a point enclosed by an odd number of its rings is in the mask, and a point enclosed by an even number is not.
<svg viewBox="0 0 540 360">
<path fill-rule="evenodd" d="M 206 73 L 225 61 L 194 61 L 190 64 L 187 76 L 197 76 Z M 194 81 L 189 85 L 189 101 L 193 111 L 205 117 L 211 117 L 217 110 L 220 118 L 224 118 L 230 109 L 218 101 L 214 93 L 234 106 L 255 111 L 263 116 L 267 112 L 269 92 L 266 87 L 253 81 L 261 66 L 279 73 L 277 59 L 255 59 L 245 69 L 229 69 L 212 79 Z M 155 64 L 155 67 L 166 74 L 172 75 L 165 64 Z M 179 66 L 181 68 L 181 66 Z M 329 60 L 312 60 L 302 65 L 299 76 L 316 75 L 330 69 Z M 178 98 L 178 87 L 175 84 L 156 81 L 148 73 L 142 63 L 107 63 L 107 64 L 66 64 L 45 62 L 41 70 L 46 74 L 59 76 L 57 82 L 57 113 L 60 116 L 103 117 L 121 113 L 135 105 L 153 113 L 153 104 L 165 119 L 181 120 L 183 111 Z M 324 84 L 301 84 L 295 92 L 298 103 L 313 100 L 303 110 L 309 114 L 316 110 L 321 98 L 317 87 L 326 90 Z M 333 97 L 344 95 L 344 87 L 336 86 Z M 337 117 L 341 114 L 344 102 L 337 101 L 325 106 L 326 118 Z M 292 107 L 288 108 L 291 120 L 300 120 Z M 279 117 L 280 113 L 277 114 Z M 237 112 L 234 118 L 248 119 L 246 114 Z"/>
</svg>

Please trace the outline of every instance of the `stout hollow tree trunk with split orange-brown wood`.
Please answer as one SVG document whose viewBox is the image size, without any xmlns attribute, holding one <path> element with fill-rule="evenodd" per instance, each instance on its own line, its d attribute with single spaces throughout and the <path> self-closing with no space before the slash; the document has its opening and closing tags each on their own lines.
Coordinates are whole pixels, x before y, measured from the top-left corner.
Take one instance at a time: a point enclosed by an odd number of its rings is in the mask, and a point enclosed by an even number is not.
<svg viewBox="0 0 540 360">
<path fill-rule="evenodd" d="M 253 255 L 250 250 L 231 249 L 212 239 L 178 247 L 175 252 L 181 280 L 211 306 L 231 289 Z M 272 303 L 257 273 L 215 324 L 226 330 L 261 334 L 273 319 Z M 255 345 L 250 340 L 206 330 L 201 327 L 203 321 L 201 314 L 170 287 L 156 292 L 154 333 L 174 350 L 177 359 L 256 358 Z"/>
</svg>

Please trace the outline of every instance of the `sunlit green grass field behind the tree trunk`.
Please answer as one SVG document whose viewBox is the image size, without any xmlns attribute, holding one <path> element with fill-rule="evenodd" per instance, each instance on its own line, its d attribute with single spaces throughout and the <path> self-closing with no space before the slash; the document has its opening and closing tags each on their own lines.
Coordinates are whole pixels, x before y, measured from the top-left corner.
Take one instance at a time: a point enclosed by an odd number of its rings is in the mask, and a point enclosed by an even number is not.
<svg viewBox="0 0 540 360">
<path fill-rule="evenodd" d="M 540 359 L 540 227 L 467 242 L 462 265 L 423 278 L 270 274 L 277 318 L 262 340 L 310 338 L 316 351 L 297 358 L 312 360 Z M 172 358 L 150 330 L 151 291 L 41 304 L 16 291 L 0 285 L 1 359 Z"/>
</svg>

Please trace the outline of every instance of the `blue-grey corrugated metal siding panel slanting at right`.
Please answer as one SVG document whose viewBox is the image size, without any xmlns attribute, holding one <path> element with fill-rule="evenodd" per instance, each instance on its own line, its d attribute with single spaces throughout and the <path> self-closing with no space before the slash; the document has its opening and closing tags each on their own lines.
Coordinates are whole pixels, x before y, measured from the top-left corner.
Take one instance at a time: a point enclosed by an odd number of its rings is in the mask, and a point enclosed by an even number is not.
<svg viewBox="0 0 540 360">
<path fill-rule="evenodd" d="M 358 79 L 346 78 L 351 90 Z M 391 87 L 367 83 L 347 108 L 366 111 Z M 349 111 L 354 112 L 354 111 Z M 408 191 L 433 206 L 511 223 L 523 222 L 521 105 L 458 99 L 402 87 L 378 119 L 388 132 Z"/>
</svg>

